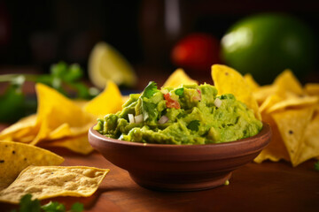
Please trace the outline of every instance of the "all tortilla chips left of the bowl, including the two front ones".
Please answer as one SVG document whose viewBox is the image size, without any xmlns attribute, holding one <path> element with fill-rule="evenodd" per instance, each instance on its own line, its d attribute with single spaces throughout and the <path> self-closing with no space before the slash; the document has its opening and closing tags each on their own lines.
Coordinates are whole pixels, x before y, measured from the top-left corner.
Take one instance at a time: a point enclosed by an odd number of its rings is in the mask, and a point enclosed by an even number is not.
<svg viewBox="0 0 319 212">
<path fill-rule="evenodd" d="M 19 203 L 27 193 L 39 200 L 91 195 L 109 170 L 56 166 L 64 159 L 35 145 L 89 154 L 93 150 L 89 127 L 97 117 L 121 109 L 119 88 L 109 82 L 105 91 L 89 102 L 74 102 L 42 84 L 36 85 L 36 95 L 37 113 L 0 133 L 0 201 Z"/>
</svg>

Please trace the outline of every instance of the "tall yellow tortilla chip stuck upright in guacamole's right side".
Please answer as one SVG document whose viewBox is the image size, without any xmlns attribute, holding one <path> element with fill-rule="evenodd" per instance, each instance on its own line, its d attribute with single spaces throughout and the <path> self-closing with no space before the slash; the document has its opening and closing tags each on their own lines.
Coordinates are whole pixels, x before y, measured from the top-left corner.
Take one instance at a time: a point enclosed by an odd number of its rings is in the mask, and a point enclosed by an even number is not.
<svg viewBox="0 0 319 212">
<path fill-rule="evenodd" d="M 244 102 L 248 108 L 253 110 L 255 117 L 261 120 L 261 113 L 256 100 L 253 98 L 253 92 L 239 72 L 226 65 L 214 64 L 212 66 L 212 77 L 219 95 L 235 95 L 238 101 Z"/>
</svg>

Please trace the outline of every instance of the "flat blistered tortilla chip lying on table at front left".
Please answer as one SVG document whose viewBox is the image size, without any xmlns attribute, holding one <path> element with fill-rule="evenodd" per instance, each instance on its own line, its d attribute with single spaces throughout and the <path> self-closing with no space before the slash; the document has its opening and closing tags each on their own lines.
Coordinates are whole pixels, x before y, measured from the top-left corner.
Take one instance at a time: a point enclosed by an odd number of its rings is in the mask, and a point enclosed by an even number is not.
<svg viewBox="0 0 319 212">
<path fill-rule="evenodd" d="M 19 203 L 27 193 L 38 200 L 57 196 L 88 197 L 97 191 L 108 171 L 84 166 L 29 166 L 0 192 L 0 201 Z"/>
</svg>

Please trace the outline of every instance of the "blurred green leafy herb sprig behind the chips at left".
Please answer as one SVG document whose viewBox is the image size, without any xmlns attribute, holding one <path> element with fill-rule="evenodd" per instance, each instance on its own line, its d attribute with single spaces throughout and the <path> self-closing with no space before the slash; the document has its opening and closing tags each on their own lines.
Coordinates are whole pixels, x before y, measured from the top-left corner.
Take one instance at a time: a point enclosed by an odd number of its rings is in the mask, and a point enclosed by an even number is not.
<svg viewBox="0 0 319 212">
<path fill-rule="evenodd" d="M 3 95 L 0 95 L 0 122 L 15 122 L 20 117 L 34 113 L 35 100 L 29 100 L 22 93 L 25 81 L 40 82 L 53 87 L 58 92 L 67 95 L 66 88 L 74 92 L 74 97 L 91 99 L 98 94 L 95 87 L 87 87 L 82 81 L 84 72 L 79 64 L 59 62 L 51 65 L 50 74 L 3 74 L 0 82 L 9 82 Z"/>
</svg>

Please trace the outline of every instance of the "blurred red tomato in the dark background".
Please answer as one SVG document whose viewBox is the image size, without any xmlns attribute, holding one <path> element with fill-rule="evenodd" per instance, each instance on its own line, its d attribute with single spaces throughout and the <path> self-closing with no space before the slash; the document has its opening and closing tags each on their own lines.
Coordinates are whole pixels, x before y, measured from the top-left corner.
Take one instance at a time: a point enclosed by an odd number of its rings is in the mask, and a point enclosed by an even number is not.
<svg viewBox="0 0 319 212">
<path fill-rule="evenodd" d="M 192 71 L 208 71 L 220 63 L 220 42 L 210 34 L 195 33 L 177 42 L 172 50 L 172 62 Z"/>
</svg>

